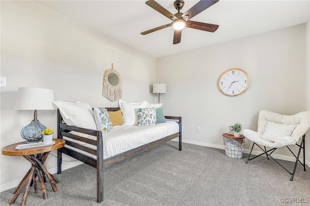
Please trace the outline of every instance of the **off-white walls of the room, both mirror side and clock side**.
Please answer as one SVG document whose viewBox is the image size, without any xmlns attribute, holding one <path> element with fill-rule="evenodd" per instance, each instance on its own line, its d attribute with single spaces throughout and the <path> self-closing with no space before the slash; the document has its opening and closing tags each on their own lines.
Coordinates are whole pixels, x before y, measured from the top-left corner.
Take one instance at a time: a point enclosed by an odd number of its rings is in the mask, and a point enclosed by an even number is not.
<svg viewBox="0 0 310 206">
<path fill-rule="evenodd" d="M 156 60 L 36 2 L 0 4 L 0 75 L 7 77 L 7 87 L 0 88 L 1 148 L 22 141 L 19 132 L 33 117 L 32 111 L 14 110 L 18 87 L 51 88 L 57 100 L 93 107 L 117 106 L 101 96 L 103 73 L 111 62 L 122 77 L 125 101 L 156 102 L 150 92 L 155 76 L 167 83 L 167 94 L 160 97 L 165 114 L 183 117 L 183 139 L 189 143 L 223 148 L 227 125 L 238 121 L 255 130 L 261 109 L 283 114 L 310 110 L 310 21 Z M 251 83 L 244 94 L 228 97 L 218 90 L 217 78 L 234 67 L 247 71 Z M 56 129 L 55 111 L 38 111 L 38 119 Z M 307 141 L 309 147 L 309 135 Z M 56 172 L 56 162 L 50 156 L 47 169 Z M 76 164 L 64 162 L 63 168 Z M 29 167 L 22 157 L 0 155 L 0 191 L 15 187 Z"/>
</svg>

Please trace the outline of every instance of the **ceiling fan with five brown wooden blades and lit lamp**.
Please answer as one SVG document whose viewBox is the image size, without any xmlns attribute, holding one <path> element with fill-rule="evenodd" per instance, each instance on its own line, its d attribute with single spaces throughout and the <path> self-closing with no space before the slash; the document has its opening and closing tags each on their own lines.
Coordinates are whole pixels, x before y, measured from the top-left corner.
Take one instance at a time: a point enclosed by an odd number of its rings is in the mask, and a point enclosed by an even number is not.
<svg viewBox="0 0 310 206">
<path fill-rule="evenodd" d="M 209 8 L 213 4 L 215 4 L 218 0 L 200 0 L 196 3 L 192 8 L 190 8 L 186 13 L 181 13 L 180 10 L 184 6 L 183 0 L 176 0 L 174 1 L 173 5 L 178 13 L 172 15 L 167 9 L 162 7 L 159 3 L 155 0 L 148 0 L 145 3 L 155 9 L 157 12 L 161 13 L 162 15 L 167 16 L 172 20 L 170 24 L 166 24 L 160 27 L 156 27 L 154 29 L 150 29 L 144 32 L 141 32 L 142 35 L 152 33 L 154 31 L 165 29 L 167 27 L 173 27 L 174 35 L 173 35 L 173 44 L 179 44 L 181 42 L 181 33 L 184 27 L 192 28 L 192 29 L 200 29 L 204 31 L 214 32 L 217 30 L 218 25 L 214 24 L 207 24 L 197 21 L 190 21 L 192 17 L 198 15 L 205 9 Z"/>
</svg>

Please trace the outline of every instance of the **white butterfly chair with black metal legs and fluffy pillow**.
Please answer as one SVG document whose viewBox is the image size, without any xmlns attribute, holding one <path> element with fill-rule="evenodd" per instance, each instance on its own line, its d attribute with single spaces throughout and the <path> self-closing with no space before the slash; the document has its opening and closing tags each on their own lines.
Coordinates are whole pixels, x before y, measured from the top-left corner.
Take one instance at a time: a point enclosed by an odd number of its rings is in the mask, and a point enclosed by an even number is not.
<svg viewBox="0 0 310 206">
<path fill-rule="evenodd" d="M 248 160 L 246 164 L 248 163 L 248 161 L 266 154 L 268 160 L 269 158 L 273 159 L 290 175 L 292 175 L 290 180 L 293 181 L 293 177 L 298 162 L 304 166 L 304 171 L 306 171 L 305 133 L 308 131 L 309 127 L 310 127 L 310 112 L 300 112 L 295 115 L 280 115 L 267 110 L 260 111 L 258 116 L 257 132 L 248 129 L 242 131 L 242 134 L 248 140 L 253 142 L 253 146 L 248 155 Z M 298 145 L 297 143 L 299 142 L 300 138 L 301 143 L 300 145 Z M 254 145 L 262 149 L 263 153 L 253 158 L 250 158 Z M 288 147 L 288 145 L 297 145 L 299 147 L 297 156 Z M 271 149 L 266 150 L 266 147 L 271 147 Z M 279 147 L 287 147 L 296 158 L 293 173 L 291 173 L 282 164 L 280 164 L 277 160 L 271 157 L 271 154 Z M 303 163 L 299 161 L 299 155 L 301 149 L 303 149 L 303 155 L 304 155 Z"/>
</svg>

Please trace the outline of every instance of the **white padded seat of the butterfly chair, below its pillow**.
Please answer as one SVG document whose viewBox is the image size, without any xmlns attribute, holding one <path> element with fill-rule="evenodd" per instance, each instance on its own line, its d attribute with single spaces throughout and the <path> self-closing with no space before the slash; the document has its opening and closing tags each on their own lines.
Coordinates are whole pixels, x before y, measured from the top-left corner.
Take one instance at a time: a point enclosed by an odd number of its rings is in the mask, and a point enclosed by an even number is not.
<svg viewBox="0 0 310 206">
<path fill-rule="evenodd" d="M 281 138 L 278 138 L 275 142 L 271 142 L 269 140 L 265 140 L 261 138 L 262 133 L 261 132 L 255 132 L 252 130 L 244 129 L 242 131 L 242 134 L 250 141 L 258 143 L 260 145 L 266 146 L 266 147 L 283 147 L 286 145 L 294 145 L 296 141 L 294 138 L 290 136 L 283 136 Z"/>
</svg>

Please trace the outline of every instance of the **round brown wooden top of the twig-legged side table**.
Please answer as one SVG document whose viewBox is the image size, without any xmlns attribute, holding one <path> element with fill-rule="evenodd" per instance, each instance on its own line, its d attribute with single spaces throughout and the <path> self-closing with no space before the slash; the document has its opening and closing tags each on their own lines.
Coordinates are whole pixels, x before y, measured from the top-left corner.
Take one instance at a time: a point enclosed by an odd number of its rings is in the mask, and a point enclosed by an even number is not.
<svg viewBox="0 0 310 206">
<path fill-rule="evenodd" d="M 63 139 L 53 139 L 55 141 L 54 145 L 46 146 L 46 147 L 35 147 L 35 148 L 29 148 L 29 149 L 16 149 L 15 147 L 17 145 L 26 144 L 26 142 L 19 142 L 13 145 L 9 145 L 2 148 L 2 154 L 3 155 L 9 155 L 9 156 L 26 156 L 26 155 L 33 155 L 33 154 L 39 154 L 44 152 L 49 152 L 54 149 L 59 149 L 65 145 L 65 141 Z"/>
</svg>

